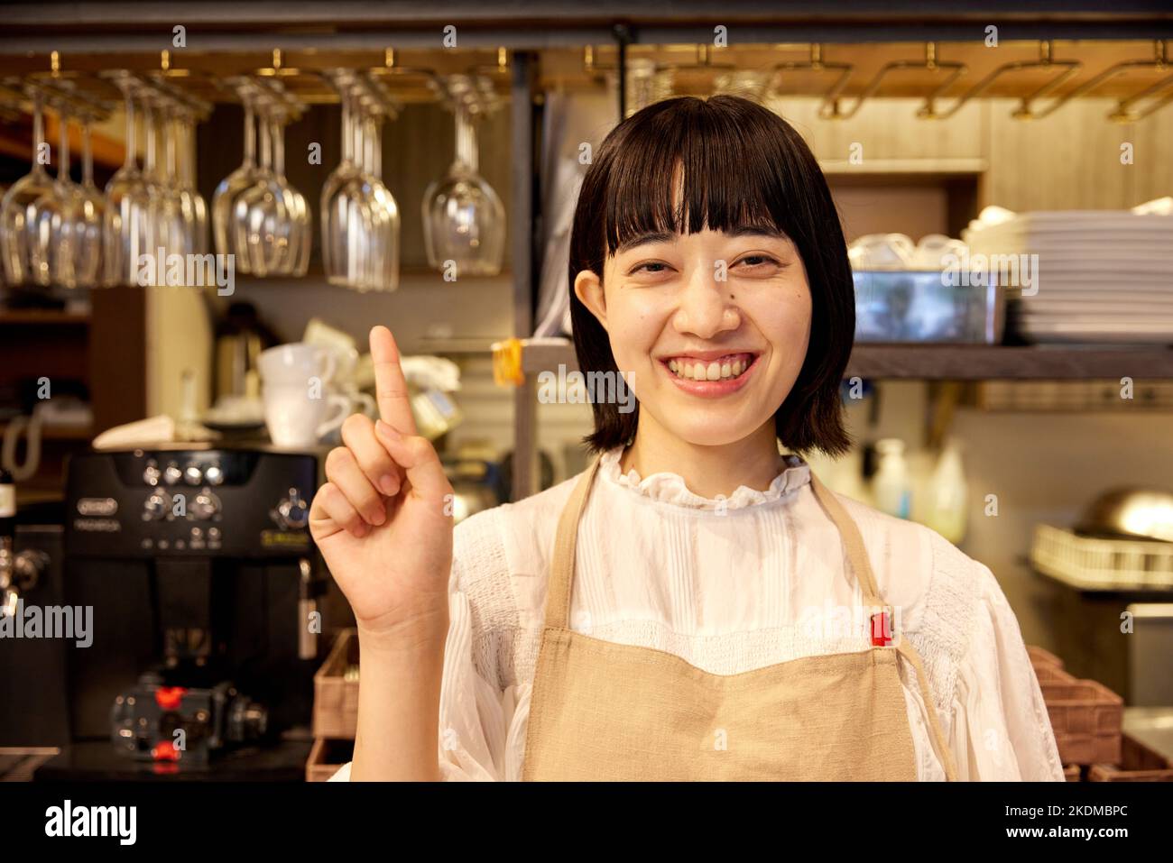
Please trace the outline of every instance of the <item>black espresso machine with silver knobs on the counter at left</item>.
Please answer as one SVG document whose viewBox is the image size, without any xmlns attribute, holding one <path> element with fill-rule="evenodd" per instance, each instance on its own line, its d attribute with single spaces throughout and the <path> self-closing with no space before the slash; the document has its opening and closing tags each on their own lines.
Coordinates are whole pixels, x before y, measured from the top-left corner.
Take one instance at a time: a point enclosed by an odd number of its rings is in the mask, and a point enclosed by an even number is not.
<svg viewBox="0 0 1173 863">
<path fill-rule="evenodd" d="M 313 454 L 90 451 L 70 460 L 61 602 L 69 745 L 38 780 L 299 779 L 321 634 Z"/>
</svg>

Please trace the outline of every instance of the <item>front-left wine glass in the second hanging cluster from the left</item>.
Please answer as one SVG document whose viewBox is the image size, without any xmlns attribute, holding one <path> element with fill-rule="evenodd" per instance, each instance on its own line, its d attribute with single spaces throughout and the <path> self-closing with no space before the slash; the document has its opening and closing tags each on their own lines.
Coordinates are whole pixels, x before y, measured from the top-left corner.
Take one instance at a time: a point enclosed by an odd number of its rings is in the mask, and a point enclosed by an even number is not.
<svg viewBox="0 0 1173 863">
<path fill-rule="evenodd" d="M 150 188 L 136 159 L 136 84 L 128 73 L 116 76 L 114 82 L 124 100 L 127 155 L 122 168 L 106 184 L 102 254 L 108 285 L 137 285 L 140 257 L 155 253 L 151 249 L 155 210 Z"/>
</svg>

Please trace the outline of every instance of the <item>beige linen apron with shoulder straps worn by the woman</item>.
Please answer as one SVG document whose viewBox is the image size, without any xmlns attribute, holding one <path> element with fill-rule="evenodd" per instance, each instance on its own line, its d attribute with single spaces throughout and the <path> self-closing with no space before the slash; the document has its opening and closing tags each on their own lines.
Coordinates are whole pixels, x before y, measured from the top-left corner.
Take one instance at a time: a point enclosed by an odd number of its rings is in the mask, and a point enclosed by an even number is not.
<svg viewBox="0 0 1173 863">
<path fill-rule="evenodd" d="M 710 674 L 664 651 L 571 631 L 578 521 L 598 463 L 583 473 L 558 521 L 523 780 L 914 781 L 897 654 L 916 671 L 934 748 L 956 780 L 921 659 L 899 633 L 895 646 L 881 646 L 881 633 L 861 652 Z M 855 522 L 813 473 L 811 485 L 839 529 L 865 607 L 879 610 Z"/>
</svg>

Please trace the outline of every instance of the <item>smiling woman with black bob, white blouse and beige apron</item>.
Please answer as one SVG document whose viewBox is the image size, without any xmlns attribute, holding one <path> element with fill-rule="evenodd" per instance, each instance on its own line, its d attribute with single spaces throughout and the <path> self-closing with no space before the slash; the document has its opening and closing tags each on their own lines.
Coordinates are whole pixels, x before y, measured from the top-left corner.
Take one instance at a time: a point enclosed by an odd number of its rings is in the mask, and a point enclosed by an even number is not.
<svg viewBox="0 0 1173 863">
<path fill-rule="evenodd" d="M 311 514 L 362 651 L 335 779 L 1064 779 L 990 570 L 794 455 L 849 444 L 854 295 L 781 117 L 673 98 L 616 127 L 568 290 L 583 372 L 637 409 L 596 399 L 585 471 L 455 531 L 372 331 L 382 420 L 347 421 Z"/>
</svg>

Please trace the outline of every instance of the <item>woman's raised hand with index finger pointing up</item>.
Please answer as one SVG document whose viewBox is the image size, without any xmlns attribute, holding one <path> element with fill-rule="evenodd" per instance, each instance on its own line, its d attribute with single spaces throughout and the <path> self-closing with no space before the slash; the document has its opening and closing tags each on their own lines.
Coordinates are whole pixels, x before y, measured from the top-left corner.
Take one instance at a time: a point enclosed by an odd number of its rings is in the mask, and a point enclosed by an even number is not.
<svg viewBox="0 0 1173 863">
<path fill-rule="evenodd" d="M 371 331 L 378 422 L 353 414 L 326 456 L 310 532 L 367 641 L 442 641 L 452 569 L 452 485 L 416 434 L 399 349 Z"/>
</svg>

